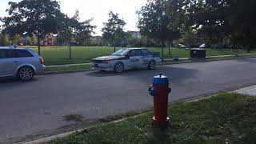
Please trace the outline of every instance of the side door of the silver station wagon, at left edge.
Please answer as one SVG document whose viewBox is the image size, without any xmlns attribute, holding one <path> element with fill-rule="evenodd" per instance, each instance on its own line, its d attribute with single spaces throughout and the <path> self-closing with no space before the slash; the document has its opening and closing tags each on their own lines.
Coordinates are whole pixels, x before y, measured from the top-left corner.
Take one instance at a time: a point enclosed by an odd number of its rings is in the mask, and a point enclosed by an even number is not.
<svg viewBox="0 0 256 144">
<path fill-rule="evenodd" d="M 15 50 L 2 50 L 2 58 L 0 59 L 0 73 L 2 76 L 10 76 L 15 74 L 19 62 L 16 58 Z"/>
</svg>

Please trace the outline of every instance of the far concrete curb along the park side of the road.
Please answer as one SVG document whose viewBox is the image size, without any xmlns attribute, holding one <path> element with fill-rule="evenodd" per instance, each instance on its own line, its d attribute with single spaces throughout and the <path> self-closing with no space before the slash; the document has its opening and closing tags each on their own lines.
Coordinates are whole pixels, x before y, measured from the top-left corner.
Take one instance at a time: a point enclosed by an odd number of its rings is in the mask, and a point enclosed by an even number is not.
<svg viewBox="0 0 256 144">
<path fill-rule="evenodd" d="M 256 58 L 256 56 L 246 57 L 246 58 Z M 161 66 L 166 65 L 175 65 L 175 64 L 182 64 L 182 63 L 194 63 L 194 62 L 214 62 L 214 61 L 223 61 L 223 60 L 234 60 L 234 59 L 244 59 L 244 58 L 220 58 L 220 59 L 206 59 L 206 60 L 193 60 L 193 61 L 183 61 L 183 62 L 164 62 Z M 71 73 L 78 73 L 78 72 L 86 72 L 86 71 L 94 71 L 91 69 L 80 69 L 80 70 L 61 70 L 61 71 L 49 71 L 42 75 L 49 75 L 49 74 L 71 74 Z"/>
</svg>

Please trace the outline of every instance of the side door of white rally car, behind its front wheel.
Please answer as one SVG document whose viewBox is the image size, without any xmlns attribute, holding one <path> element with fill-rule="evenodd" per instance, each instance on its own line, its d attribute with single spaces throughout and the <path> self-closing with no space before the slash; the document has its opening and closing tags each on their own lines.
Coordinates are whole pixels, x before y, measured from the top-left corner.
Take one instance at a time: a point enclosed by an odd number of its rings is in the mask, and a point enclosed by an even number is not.
<svg viewBox="0 0 256 144">
<path fill-rule="evenodd" d="M 140 67 L 143 64 L 142 51 L 141 50 L 130 50 L 129 66 Z"/>
</svg>

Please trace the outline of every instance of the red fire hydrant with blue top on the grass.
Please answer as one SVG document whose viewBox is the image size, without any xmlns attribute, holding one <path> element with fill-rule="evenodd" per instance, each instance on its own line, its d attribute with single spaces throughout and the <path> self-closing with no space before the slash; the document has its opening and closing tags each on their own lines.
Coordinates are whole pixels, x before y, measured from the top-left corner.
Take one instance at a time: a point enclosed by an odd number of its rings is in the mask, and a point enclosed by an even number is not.
<svg viewBox="0 0 256 144">
<path fill-rule="evenodd" d="M 170 94 L 169 80 L 166 76 L 159 74 L 154 76 L 149 93 L 154 97 L 154 124 L 168 125 L 167 117 L 168 94 Z"/>
</svg>

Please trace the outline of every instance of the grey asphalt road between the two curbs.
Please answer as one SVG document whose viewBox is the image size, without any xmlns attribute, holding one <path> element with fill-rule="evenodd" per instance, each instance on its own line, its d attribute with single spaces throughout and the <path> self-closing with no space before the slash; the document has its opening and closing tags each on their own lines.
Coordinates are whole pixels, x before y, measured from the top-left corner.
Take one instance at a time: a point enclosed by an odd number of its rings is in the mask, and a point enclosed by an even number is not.
<svg viewBox="0 0 256 144">
<path fill-rule="evenodd" d="M 219 90 L 256 84 L 256 58 L 127 70 L 122 74 L 89 71 L 38 76 L 32 82 L 0 81 L 0 143 L 68 130 L 81 114 L 85 122 L 151 108 L 148 94 L 154 75 L 170 77 L 170 102 Z"/>
</svg>

